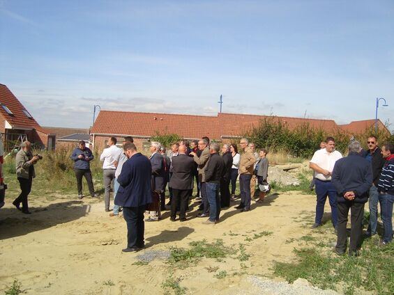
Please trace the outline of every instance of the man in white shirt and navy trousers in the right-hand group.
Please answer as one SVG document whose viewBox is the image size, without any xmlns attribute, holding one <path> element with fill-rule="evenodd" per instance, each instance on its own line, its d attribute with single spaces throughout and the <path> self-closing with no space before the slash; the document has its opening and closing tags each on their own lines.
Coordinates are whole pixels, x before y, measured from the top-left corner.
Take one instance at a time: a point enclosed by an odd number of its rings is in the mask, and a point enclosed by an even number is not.
<svg viewBox="0 0 394 295">
<path fill-rule="evenodd" d="M 315 171 L 317 195 L 315 223 L 312 225 L 312 228 L 317 228 L 321 225 L 321 218 L 323 218 L 324 214 L 324 205 L 326 204 L 328 196 L 331 206 L 331 221 L 335 228 L 335 232 L 337 230 L 337 192 L 333 184 L 331 184 L 331 173 L 333 173 L 335 162 L 341 158 L 342 154 L 335 150 L 334 138 L 327 137 L 326 148 L 317 150 L 310 160 L 309 167 Z"/>
</svg>

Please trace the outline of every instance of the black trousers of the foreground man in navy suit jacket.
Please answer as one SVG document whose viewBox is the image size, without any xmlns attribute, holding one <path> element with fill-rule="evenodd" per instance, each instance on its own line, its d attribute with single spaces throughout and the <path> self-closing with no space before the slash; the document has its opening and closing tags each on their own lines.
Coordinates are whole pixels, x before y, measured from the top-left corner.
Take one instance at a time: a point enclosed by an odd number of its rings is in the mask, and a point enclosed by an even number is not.
<svg viewBox="0 0 394 295">
<path fill-rule="evenodd" d="M 144 247 L 144 212 L 146 205 L 139 207 L 123 207 L 123 218 L 127 224 L 128 248 Z"/>
</svg>

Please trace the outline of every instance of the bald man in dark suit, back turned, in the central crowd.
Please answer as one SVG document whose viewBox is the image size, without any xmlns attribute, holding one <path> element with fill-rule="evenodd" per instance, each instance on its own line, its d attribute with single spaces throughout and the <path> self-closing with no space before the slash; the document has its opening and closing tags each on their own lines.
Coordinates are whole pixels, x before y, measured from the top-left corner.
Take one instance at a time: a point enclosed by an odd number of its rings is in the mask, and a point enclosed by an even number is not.
<svg viewBox="0 0 394 295">
<path fill-rule="evenodd" d="M 195 161 L 186 155 L 186 146 L 179 145 L 179 154 L 172 158 L 172 177 L 169 182 L 174 196 L 171 202 L 171 221 L 176 219 L 176 208 L 179 207 L 179 220 L 186 221 L 186 208 L 190 189 L 193 188 L 193 169 Z"/>
</svg>

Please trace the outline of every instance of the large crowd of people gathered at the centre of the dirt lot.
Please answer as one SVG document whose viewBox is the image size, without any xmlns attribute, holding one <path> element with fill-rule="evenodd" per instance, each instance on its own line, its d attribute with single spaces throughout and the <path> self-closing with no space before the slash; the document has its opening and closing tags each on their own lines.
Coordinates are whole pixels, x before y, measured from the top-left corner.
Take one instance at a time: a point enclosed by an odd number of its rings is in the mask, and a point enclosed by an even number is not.
<svg viewBox="0 0 394 295">
<path fill-rule="evenodd" d="M 187 220 L 192 191 L 197 182 L 197 196 L 201 201 L 198 217 L 206 217 L 206 224 L 219 222 L 220 211 L 229 207 L 236 198 L 236 179 L 239 175 L 241 203 L 236 207 L 241 212 L 250 211 L 255 186 L 259 184 L 260 192 L 257 202 L 263 202 L 267 184 L 268 159 L 267 151 L 255 152 L 255 145 L 247 138 L 241 139 L 242 154 L 238 153 L 236 144 L 222 147 L 218 143 L 210 143 L 208 137 L 199 141 L 181 141 L 171 145 L 171 151 L 158 142 L 151 142 L 150 157 L 137 152 L 132 138 L 124 138 L 123 149 L 116 146 L 116 138 L 109 138 L 109 148 L 100 155 L 103 161 L 105 211 L 109 212 L 109 192 L 114 182 L 114 209 L 110 216 L 119 215 L 123 208 L 123 218 L 128 225 L 128 248 L 125 252 L 143 248 L 144 212 L 149 211 L 145 221 L 160 220 L 165 210 L 165 189 L 168 185 L 170 220 Z M 220 154 L 221 152 L 221 154 Z M 96 197 L 89 162 L 93 154 L 83 141 L 70 157 L 75 161 L 78 198 L 82 195 L 82 177 L 86 177 L 91 196 Z M 149 171 L 149 173 L 147 173 Z M 230 182 L 232 191 L 230 193 Z"/>
</svg>

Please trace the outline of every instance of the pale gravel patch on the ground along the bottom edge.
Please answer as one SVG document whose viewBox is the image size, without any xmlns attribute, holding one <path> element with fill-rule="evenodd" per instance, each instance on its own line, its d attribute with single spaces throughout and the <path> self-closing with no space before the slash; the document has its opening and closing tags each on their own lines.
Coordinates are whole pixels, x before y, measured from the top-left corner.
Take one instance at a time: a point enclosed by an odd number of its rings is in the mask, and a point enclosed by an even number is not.
<svg viewBox="0 0 394 295">
<path fill-rule="evenodd" d="M 308 280 L 298 278 L 293 284 L 288 282 L 273 282 L 265 278 L 259 278 L 257 276 L 248 276 L 248 281 L 252 283 L 254 287 L 261 289 L 264 295 L 339 295 L 338 292 L 333 290 L 322 290 L 317 287 L 310 285 Z"/>
</svg>

